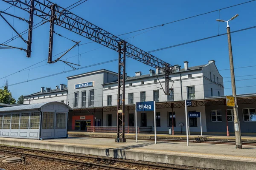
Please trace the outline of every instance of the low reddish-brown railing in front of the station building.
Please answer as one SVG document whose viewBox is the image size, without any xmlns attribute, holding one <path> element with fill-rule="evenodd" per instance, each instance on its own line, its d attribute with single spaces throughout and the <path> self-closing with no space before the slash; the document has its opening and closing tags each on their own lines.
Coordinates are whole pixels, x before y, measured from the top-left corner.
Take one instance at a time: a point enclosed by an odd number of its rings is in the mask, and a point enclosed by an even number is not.
<svg viewBox="0 0 256 170">
<path fill-rule="evenodd" d="M 138 133 L 149 133 L 152 131 L 152 127 L 137 127 Z M 91 126 L 87 127 L 87 132 L 98 132 L 98 133 L 116 133 L 116 126 Z M 122 132 L 122 129 L 120 128 Z M 125 127 L 125 133 L 135 133 L 135 127 Z"/>
</svg>

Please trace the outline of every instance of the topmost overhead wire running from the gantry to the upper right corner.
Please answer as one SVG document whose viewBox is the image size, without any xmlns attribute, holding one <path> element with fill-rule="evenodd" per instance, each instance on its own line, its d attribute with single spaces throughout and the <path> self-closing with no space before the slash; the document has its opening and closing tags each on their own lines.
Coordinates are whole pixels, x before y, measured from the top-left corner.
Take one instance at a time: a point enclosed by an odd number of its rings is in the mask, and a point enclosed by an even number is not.
<svg viewBox="0 0 256 170">
<path fill-rule="evenodd" d="M 169 23 L 164 23 L 164 24 L 160 24 L 160 25 L 157 25 L 157 26 L 151 26 L 151 27 L 148 27 L 148 28 L 143 28 L 143 29 L 139 29 L 139 30 L 136 30 L 136 31 L 131 31 L 131 32 L 128 32 L 128 33 L 120 34 L 119 36 L 126 35 L 126 34 L 131 34 L 131 33 L 138 32 L 138 31 L 143 31 L 143 30 L 150 29 L 150 28 L 160 27 L 160 26 L 164 26 L 164 25 L 167 25 L 167 24 L 171 24 L 171 23 L 176 23 L 176 22 L 187 20 L 187 19 L 194 18 L 194 17 L 199 17 L 201 15 L 210 14 L 212 12 L 220 11 L 220 10 L 227 9 L 227 8 L 232 8 L 232 7 L 235 7 L 235 6 L 240 6 L 240 5 L 243 5 L 245 3 L 250 3 L 250 2 L 253 2 L 253 1 L 255 1 L 255 0 L 250 0 L 250 1 L 247 1 L 247 2 L 244 2 L 244 3 L 239 3 L 239 4 L 236 4 L 236 5 L 233 5 L 233 6 L 228 6 L 228 7 L 225 7 L 225 8 L 216 9 L 214 11 L 209 11 L 209 12 L 205 12 L 203 14 L 194 15 L 192 17 L 186 17 L 186 18 L 183 18 L 183 19 L 180 19 L 180 20 L 175 20 L 175 21 L 169 22 Z"/>
</svg>

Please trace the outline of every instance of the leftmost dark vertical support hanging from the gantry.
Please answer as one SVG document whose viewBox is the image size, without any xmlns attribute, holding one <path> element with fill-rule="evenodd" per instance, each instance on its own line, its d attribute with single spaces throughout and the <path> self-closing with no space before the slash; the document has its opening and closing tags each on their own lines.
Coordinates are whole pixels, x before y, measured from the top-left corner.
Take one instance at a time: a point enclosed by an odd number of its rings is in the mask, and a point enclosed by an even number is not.
<svg viewBox="0 0 256 170">
<path fill-rule="evenodd" d="M 27 41 L 27 56 L 31 57 L 31 45 L 32 45 L 32 31 L 33 31 L 33 22 L 34 22 L 34 6 L 35 6 L 35 0 L 31 0 L 31 9 L 29 11 L 29 35 L 28 35 L 28 41 Z"/>
</svg>

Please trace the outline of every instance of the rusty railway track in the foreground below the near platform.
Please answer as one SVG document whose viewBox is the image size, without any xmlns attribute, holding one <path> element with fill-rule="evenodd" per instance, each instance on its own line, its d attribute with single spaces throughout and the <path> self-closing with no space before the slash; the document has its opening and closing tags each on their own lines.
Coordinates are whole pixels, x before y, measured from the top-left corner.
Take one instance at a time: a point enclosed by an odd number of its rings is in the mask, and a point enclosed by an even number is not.
<svg viewBox="0 0 256 170">
<path fill-rule="evenodd" d="M 182 167 L 179 165 L 166 166 L 163 164 L 143 163 L 137 161 L 93 157 L 83 154 L 35 150 L 3 145 L 0 145 L 0 152 L 12 155 L 28 156 L 35 159 L 42 159 L 43 161 L 57 161 L 61 164 L 67 164 L 67 166 L 76 165 L 76 167 L 84 166 L 105 170 L 213 170 L 209 168 Z"/>
</svg>

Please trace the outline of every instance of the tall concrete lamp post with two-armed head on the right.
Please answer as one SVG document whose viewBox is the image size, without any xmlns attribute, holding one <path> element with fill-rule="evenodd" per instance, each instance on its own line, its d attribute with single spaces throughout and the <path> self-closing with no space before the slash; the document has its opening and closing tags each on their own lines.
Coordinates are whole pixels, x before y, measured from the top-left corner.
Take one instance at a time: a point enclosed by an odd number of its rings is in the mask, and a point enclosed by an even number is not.
<svg viewBox="0 0 256 170">
<path fill-rule="evenodd" d="M 242 149 L 240 122 L 239 122 L 239 118 L 238 118 L 238 109 L 237 109 L 238 106 L 237 106 L 237 100 L 236 100 L 236 82 L 235 82 L 235 73 L 234 73 L 234 65 L 233 65 L 230 26 L 228 25 L 228 22 L 231 20 L 234 20 L 236 17 L 238 17 L 238 14 L 236 14 L 234 17 L 232 17 L 228 21 L 224 21 L 224 20 L 217 20 L 217 21 L 227 23 L 227 41 L 228 41 L 228 51 L 229 51 L 229 59 L 230 59 L 232 94 L 233 94 L 233 97 L 235 100 L 235 106 L 233 108 L 233 111 L 234 111 L 234 128 L 235 128 L 235 136 L 236 136 L 236 148 Z"/>
</svg>

